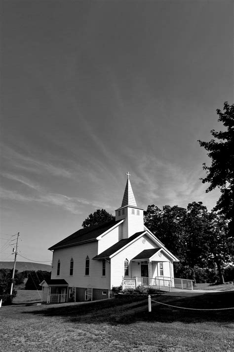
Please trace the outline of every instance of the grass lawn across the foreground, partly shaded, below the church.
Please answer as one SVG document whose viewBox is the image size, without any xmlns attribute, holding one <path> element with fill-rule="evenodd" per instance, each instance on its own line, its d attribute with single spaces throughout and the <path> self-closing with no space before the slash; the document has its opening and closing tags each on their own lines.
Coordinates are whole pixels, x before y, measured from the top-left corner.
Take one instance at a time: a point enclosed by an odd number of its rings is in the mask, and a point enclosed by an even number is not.
<svg viewBox="0 0 234 352">
<path fill-rule="evenodd" d="M 234 306 L 234 291 L 155 296 L 195 308 Z M 0 351 L 234 351 L 234 309 L 194 311 L 145 298 L 0 308 Z"/>
</svg>

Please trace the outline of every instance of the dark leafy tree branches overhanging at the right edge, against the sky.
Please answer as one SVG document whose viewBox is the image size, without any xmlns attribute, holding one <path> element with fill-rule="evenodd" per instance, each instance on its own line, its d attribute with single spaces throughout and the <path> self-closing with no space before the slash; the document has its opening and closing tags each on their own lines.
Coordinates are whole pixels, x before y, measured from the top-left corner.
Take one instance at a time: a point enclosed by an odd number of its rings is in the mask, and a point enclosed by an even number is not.
<svg viewBox="0 0 234 352">
<path fill-rule="evenodd" d="M 221 191 L 221 196 L 217 201 L 214 210 L 224 214 L 229 220 L 230 234 L 234 234 L 234 104 L 224 103 L 224 112 L 217 109 L 218 121 L 221 121 L 227 128 L 226 131 L 216 132 L 211 130 L 211 134 L 218 141 L 212 139 L 210 142 L 201 142 L 201 147 L 208 151 L 211 158 L 211 166 L 203 163 L 206 170 L 206 177 L 201 179 L 202 183 L 209 182 L 206 192 L 210 192 L 216 187 Z"/>
</svg>

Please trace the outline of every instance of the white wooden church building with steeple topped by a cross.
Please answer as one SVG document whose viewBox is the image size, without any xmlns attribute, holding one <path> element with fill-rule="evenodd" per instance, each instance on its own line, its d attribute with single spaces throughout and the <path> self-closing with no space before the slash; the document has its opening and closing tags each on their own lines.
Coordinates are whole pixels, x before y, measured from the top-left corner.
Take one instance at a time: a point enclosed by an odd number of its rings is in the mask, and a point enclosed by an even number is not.
<svg viewBox="0 0 234 352">
<path fill-rule="evenodd" d="M 144 225 L 127 175 L 115 220 L 82 228 L 49 248 L 52 271 L 51 279 L 41 283 L 44 302 L 106 299 L 120 285 L 174 286 L 178 259 Z"/>
</svg>

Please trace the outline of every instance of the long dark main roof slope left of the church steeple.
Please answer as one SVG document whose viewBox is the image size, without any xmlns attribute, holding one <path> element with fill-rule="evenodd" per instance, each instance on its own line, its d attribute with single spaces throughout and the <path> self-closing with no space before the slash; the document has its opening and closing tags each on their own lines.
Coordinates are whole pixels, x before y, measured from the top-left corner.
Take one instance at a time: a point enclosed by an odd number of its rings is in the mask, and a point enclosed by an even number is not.
<svg viewBox="0 0 234 352">
<path fill-rule="evenodd" d="M 97 241 L 96 239 L 98 236 L 102 235 L 104 232 L 107 232 L 122 221 L 123 220 L 111 220 L 108 222 L 103 222 L 99 225 L 85 227 L 84 229 L 74 232 L 72 235 L 50 247 L 49 250 L 52 251 L 60 248 L 81 245 L 82 243 Z"/>
</svg>

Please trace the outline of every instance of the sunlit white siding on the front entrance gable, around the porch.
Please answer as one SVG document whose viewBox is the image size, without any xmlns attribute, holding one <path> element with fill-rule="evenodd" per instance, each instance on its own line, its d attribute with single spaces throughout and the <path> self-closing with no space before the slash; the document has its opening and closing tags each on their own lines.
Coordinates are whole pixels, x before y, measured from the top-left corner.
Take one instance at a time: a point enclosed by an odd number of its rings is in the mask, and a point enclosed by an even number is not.
<svg viewBox="0 0 234 352">
<path fill-rule="evenodd" d="M 143 238 L 146 240 L 145 243 L 142 242 Z M 140 265 L 137 263 L 136 266 L 136 263 L 130 262 L 130 260 L 141 251 L 149 250 L 152 248 L 157 248 L 156 244 L 147 235 L 144 235 L 138 240 L 134 241 L 130 246 L 120 251 L 117 255 L 115 255 L 111 259 L 111 287 L 121 285 L 122 278 L 124 277 L 125 259 L 129 261 L 129 276 L 125 276 L 125 278 L 131 278 L 131 275 L 138 276 L 137 273 L 139 276 L 141 276 Z"/>
</svg>

